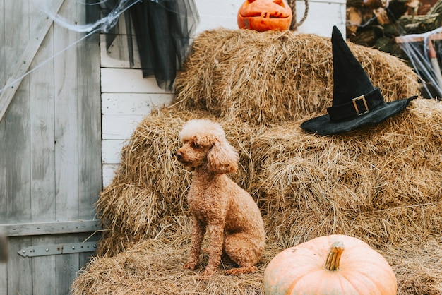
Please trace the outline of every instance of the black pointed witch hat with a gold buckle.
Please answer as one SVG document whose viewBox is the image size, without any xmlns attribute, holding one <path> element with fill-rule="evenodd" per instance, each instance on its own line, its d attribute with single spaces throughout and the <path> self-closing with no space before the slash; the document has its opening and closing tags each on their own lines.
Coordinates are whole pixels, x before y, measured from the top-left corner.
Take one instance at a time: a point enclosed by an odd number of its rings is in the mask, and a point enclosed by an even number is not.
<svg viewBox="0 0 442 295">
<path fill-rule="evenodd" d="M 378 124 L 402 112 L 417 96 L 385 102 L 354 57 L 341 32 L 333 27 L 333 102 L 328 114 L 305 121 L 301 128 L 323 136 Z"/>
</svg>

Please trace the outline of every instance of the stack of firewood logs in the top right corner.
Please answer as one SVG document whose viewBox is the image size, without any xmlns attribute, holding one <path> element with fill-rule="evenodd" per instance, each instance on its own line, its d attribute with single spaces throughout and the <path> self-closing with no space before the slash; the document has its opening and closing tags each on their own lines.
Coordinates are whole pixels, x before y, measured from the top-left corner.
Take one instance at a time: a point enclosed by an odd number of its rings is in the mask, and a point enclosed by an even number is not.
<svg viewBox="0 0 442 295">
<path fill-rule="evenodd" d="M 347 0 L 347 40 L 407 59 L 395 37 L 442 25 L 442 0 Z"/>
</svg>

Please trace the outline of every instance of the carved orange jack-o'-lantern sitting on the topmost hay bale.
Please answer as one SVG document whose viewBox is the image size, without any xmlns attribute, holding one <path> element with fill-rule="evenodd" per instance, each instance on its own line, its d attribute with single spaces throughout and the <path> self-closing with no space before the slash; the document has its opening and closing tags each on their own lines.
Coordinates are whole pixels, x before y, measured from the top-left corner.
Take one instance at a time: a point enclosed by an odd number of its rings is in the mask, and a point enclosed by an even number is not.
<svg viewBox="0 0 442 295">
<path fill-rule="evenodd" d="M 239 8 L 237 19 L 240 29 L 289 30 L 292 8 L 284 0 L 246 0 Z"/>
</svg>

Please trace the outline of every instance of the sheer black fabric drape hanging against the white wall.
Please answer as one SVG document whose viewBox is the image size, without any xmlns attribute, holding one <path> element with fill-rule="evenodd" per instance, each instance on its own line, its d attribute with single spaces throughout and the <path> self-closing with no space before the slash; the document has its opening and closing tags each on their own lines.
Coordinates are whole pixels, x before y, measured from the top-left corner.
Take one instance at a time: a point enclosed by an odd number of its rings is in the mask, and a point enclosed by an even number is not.
<svg viewBox="0 0 442 295">
<path fill-rule="evenodd" d="M 102 13 L 107 16 L 121 5 L 130 6 L 124 16 L 131 66 L 132 23 L 143 77 L 155 76 L 160 88 L 172 90 L 177 71 L 191 49 L 192 35 L 199 22 L 196 4 L 193 0 L 107 0 L 102 3 Z M 117 26 L 109 31 L 107 47 L 117 34 Z"/>
</svg>

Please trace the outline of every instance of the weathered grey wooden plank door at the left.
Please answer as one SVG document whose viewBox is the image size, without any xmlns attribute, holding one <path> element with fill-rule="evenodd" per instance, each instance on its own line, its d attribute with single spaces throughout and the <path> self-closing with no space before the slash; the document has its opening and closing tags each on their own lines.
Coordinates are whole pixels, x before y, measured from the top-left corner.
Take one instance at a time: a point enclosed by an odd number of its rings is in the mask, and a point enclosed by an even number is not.
<svg viewBox="0 0 442 295">
<path fill-rule="evenodd" d="M 84 33 L 38 6 L 83 24 L 85 2 L 0 0 L 0 295 L 68 294 L 93 250 L 82 242 L 101 190 L 99 36 L 76 43 Z"/>
</svg>

